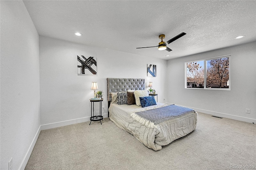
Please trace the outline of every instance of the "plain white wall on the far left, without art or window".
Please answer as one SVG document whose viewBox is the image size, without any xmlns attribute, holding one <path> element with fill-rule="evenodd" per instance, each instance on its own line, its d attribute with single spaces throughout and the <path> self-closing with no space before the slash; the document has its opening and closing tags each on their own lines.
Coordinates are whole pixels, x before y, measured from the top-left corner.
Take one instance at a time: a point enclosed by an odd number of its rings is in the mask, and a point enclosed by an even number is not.
<svg viewBox="0 0 256 170">
<path fill-rule="evenodd" d="M 0 6 L 0 169 L 8 170 L 12 157 L 17 170 L 40 127 L 39 36 L 22 1 Z"/>
</svg>

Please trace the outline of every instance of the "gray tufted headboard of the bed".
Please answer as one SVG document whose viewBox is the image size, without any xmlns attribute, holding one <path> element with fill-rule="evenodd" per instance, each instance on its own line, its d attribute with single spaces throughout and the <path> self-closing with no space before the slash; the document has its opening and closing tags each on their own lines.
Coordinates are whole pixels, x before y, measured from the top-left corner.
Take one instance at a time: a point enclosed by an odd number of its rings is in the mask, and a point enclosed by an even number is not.
<svg viewBox="0 0 256 170">
<path fill-rule="evenodd" d="M 111 101 L 111 92 L 144 89 L 145 79 L 107 78 L 108 101 Z"/>
</svg>

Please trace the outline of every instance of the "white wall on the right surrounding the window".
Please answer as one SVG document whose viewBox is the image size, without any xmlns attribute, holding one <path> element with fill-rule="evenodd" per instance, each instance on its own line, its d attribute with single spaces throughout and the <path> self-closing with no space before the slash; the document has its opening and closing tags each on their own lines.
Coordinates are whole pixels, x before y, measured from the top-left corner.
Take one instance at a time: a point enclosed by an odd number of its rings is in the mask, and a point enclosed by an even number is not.
<svg viewBox="0 0 256 170">
<path fill-rule="evenodd" d="M 235 41 L 235 40 L 234 40 Z M 230 57 L 231 90 L 185 89 L 185 62 Z M 168 102 L 246 122 L 256 119 L 256 42 L 168 60 Z M 250 109 L 250 114 L 245 113 Z"/>
</svg>

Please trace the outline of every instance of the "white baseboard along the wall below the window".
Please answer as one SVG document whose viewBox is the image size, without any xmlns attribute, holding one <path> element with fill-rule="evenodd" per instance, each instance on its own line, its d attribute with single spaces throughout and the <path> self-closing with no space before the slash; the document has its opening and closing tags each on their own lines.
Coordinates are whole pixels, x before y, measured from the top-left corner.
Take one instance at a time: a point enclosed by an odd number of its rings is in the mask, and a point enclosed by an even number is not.
<svg viewBox="0 0 256 170">
<path fill-rule="evenodd" d="M 166 103 L 166 104 L 172 104 L 172 103 Z M 188 106 L 183 106 L 183 107 L 188 107 Z M 197 112 L 205 113 L 205 114 L 212 115 L 212 116 L 224 117 L 224 118 L 228 118 L 228 119 L 234 119 L 236 121 L 243 121 L 243 122 L 254 123 L 254 124 L 256 123 L 256 119 L 251 119 L 251 118 L 247 118 L 247 117 L 240 117 L 240 116 L 235 116 L 235 115 L 229 115 L 229 114 L 226 114 L 226 113 L 208 111 L 208 110 L 198 109 L 198 108 L 194 108 L 194 107 L 189 107 L 189 108 L 194 109 Z"/>
</svg>

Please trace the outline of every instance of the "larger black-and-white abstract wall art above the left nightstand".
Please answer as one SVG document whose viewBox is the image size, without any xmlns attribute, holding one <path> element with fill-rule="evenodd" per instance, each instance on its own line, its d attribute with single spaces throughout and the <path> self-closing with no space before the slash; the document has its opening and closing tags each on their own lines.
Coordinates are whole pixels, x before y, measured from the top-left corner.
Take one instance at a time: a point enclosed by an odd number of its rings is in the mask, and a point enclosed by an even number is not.
<svg viewBox="0 0 256 170">
<path fill-rule="evenodd" d="M 97 58 L 77 55 L 77 74 L 97 75 Z"/>
</svg>

